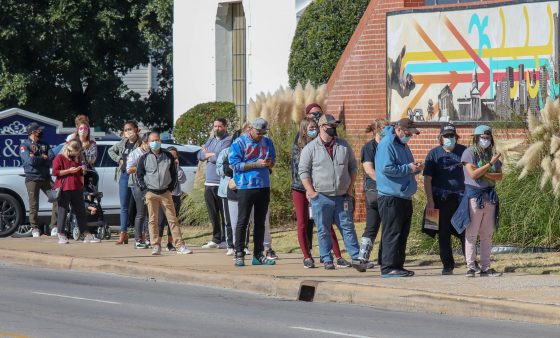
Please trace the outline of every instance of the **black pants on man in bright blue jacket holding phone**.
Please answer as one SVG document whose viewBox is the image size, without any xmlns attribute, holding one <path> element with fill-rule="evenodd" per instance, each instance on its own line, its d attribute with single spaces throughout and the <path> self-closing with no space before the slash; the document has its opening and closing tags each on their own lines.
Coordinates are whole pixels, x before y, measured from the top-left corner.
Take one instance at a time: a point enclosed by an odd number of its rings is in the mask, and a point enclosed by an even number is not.
<svg viewBox="0 0 560 338">
<path fill-rule="evenodd" d="M 264 251 L 264 223 L 268 204 L 270 202 L 270 188 L 240 189 L 238 196 L 238 218 L 235 229 L 235 250 L 238 256 L 244 256 L 245 236 L 247 236 L 247 225 L 251 216 L 251 210 L 255 208 L 253 229 L 253 255 L 261 256 Z"/>
</svg>

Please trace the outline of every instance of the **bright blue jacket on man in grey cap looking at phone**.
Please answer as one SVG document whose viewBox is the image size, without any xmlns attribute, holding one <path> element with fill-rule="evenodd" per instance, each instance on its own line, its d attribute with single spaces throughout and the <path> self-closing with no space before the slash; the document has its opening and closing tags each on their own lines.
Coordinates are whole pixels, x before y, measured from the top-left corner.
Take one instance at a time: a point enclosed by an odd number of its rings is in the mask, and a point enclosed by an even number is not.
<svg viewBox="0 0 560 338">
<path fill-rule="evenodd" d="M 245 170 L 245 164 L 267 158 L 276 162 L 276 152 L 271 139 L 265 136 L 259 142 L 255 142 L 248 134 L 242 134 L 229 148 L 228 157 L 238 190 L 270 188 L 269 168 Z"/>
</svg>

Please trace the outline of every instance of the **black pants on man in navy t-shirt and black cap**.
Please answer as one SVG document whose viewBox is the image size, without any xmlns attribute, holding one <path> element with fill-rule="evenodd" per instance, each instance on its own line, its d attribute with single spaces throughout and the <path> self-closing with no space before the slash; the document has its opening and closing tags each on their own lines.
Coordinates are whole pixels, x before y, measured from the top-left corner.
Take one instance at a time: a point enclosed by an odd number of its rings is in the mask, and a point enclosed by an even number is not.
<svg viewBox="0 0 560 338">
<path fill-rule="evenodd" d="M 461 241 L 461 249 L 463 255 L 465 254 L 465 234 L 458 234 L 455 227 L 451 224 L 451 218 L 460 203 L 461 200 L 455 195 L 448 196 L 446 199 L 434 196 L 435 207 L 439 209 L 439 257 L 441 258 L 443 267 L 447 269 L 455 268 L 451 235 L 457 237 Z"/>
</svg>

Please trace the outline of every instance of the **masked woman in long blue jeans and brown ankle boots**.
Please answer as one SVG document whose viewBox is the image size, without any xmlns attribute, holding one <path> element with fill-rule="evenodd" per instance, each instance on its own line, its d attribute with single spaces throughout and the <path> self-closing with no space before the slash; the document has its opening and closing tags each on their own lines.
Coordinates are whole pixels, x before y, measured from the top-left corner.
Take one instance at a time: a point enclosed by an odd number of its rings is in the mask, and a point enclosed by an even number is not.
<svg viewBox="0 0 560 338">
<path fill-rule="evenodd" d="M 138 133 L 138 124 L 135 121 L 127 121 L 124 124 L 124 135 L 125 137 L 117 144 L 113 145 L 108 150 L 108 154 L 111 159 L 118 163 L 116 168 L 115 180 L 119 184 L 119 200 L 121 204 L 120 213 L 120 236 L 117 241 L 117 245 L 128 244 L 128 211 L 129 205 L 132 197 L 132 190 L 130 187 L 134 184 L 132 182 L 132 177 L 126 172 L 126 160 L 128 155 L 134 151 L 134 149 L 140 146 L 140 137 Z"/>
</svg>

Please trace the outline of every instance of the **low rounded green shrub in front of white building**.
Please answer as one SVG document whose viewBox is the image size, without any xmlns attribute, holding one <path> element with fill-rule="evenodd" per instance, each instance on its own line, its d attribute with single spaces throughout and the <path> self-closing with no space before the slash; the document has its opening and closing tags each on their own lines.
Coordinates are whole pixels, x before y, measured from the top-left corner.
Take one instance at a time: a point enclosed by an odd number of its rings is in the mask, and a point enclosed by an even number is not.
<svg viewBox="0 0 560 338">
<path fill-rule="evenodd" d="M 201 103 L 187 110 L 177 119 L 173 136 L 179 143 L 204 144 L 212 131 L 212 123 L 217 117 L 225 118 L 230 130 L 239 126 L 239 115 L 233 103 Z"/>
</svg>

